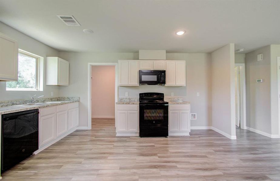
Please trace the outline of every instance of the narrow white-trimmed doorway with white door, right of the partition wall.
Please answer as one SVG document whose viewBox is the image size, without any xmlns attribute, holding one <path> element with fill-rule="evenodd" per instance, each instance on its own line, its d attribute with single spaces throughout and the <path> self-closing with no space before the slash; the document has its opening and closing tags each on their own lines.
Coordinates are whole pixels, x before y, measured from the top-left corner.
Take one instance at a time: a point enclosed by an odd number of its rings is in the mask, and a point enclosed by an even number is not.
<svg viewBox="0 0 280 181">
<path fill-rule="evenodd" d="M 247 129 L 245 63 L 235 64 L 235 125 Z"/>
</svg>

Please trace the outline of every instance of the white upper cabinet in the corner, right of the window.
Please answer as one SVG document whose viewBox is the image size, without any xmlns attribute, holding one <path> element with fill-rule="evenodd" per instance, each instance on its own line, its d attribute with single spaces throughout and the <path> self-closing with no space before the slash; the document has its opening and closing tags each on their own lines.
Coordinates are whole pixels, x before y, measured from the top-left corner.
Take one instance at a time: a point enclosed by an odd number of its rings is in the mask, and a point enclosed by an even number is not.
<svg viewBox="0 0 280 181">
<path fill-rule="evenodd" d="M 46 85 L 69 85 L 69 62 L 59 57 L 47 57 Z"/>
</svg>

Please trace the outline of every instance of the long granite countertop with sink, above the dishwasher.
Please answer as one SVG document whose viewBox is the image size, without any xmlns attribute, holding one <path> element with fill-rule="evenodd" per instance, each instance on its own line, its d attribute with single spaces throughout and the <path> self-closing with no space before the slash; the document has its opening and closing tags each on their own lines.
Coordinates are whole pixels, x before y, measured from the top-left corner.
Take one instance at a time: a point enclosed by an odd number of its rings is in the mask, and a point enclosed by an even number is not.
<svg viewBox="0 0 280 181">
<path fill-rule="evenodd" d="M 58 106 L 58 105 L 62 105 L 62 104 L 75 103 L 75 102 L 79 102 L 79 99 L 75 99 L 75 100 L 56 100 L 55 102 L 60 102 L 60 103 L 45 104 L 45 105 L 40 105 L 40 106 L 38 106 L 38 105 L 33 105 L 33 106 L 32 105 L 28 105 L 28 106 L 23 106 L 23 105 L 3 106 L 3 107 L 0 107 L 0 115 L 1 114 L 20 112 L 20 111 L 41 109 L 41 108 L 44 108 L 44 107 Z"/>
</svg>

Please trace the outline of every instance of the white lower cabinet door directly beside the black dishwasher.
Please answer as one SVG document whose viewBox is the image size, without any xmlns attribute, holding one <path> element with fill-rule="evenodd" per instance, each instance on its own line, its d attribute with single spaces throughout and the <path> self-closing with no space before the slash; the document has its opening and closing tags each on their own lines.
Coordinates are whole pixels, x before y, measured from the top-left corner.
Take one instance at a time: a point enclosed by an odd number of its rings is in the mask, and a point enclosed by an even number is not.
<svg viewBox="0 0 280 181">
<path fill-rule="evenodd" d="M 40 141 L 39 146 L 48 143 L 56 138 L 56 116 L 51 114 L 40 117 Z"/>
</svg>

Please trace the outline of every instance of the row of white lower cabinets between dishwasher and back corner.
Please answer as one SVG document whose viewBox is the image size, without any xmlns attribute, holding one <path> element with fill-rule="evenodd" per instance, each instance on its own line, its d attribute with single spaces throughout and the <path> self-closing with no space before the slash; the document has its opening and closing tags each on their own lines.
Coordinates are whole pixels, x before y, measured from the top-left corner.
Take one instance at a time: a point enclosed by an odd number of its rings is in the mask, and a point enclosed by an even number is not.
<svg viewBox="0 0 280 181">
<path fill-rule="evenodd" d="M 79 124 L 79 103 L 69 103 L 39 109 L 39 150 L 76 130 Z"/>
</svg>

